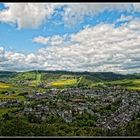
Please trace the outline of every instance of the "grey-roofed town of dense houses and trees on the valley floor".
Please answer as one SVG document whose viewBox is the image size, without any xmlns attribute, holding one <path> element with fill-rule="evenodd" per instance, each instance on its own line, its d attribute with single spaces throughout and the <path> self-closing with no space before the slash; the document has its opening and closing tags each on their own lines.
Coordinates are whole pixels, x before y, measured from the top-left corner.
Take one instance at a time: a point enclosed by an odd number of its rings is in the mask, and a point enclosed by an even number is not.
<svg viewBox="0 0 140 140">
<path fill-rule="evenodd" d="M 140 92 L 119 86 L 34 92 L 35 94 L 25 95 L 27 100 L 23 102 L 24 107 L 20 113 L 27 117 L 32 115 L 41 121 L 46 121 L 49 115 L 56 115 L 66 123 L 71 123 L 78 114 L 90 114 L 95 118 L 92 126 L 116 129 L 133 120 L 140 111 Z M 17 105 L 19 101 L 7 101 L 8 104 Z"/>
</svg>

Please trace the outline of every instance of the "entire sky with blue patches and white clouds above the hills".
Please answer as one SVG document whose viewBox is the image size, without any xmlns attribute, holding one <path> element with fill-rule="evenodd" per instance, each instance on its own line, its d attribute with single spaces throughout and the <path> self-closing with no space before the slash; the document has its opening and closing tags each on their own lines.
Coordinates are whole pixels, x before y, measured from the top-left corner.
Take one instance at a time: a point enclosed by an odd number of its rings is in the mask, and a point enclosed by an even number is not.
<svg viewBox="0 0 140 140">
<path fill-rule="evenodd" d="M 139 3 L 0 3 L 0 70 L 140 73 Z"/>
</svg>

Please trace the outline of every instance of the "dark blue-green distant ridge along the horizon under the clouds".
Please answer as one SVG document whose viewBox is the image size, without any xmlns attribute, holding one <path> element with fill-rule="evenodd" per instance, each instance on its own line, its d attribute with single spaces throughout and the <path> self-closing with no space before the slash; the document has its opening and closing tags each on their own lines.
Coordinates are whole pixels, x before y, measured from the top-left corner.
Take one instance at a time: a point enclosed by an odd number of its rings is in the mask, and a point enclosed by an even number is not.
<svg viewBox="0 0 140 140">
<path fill-rule="evenodd" d="M 74 71 L 63 71 L 63 70 L 37 70 L 39 73 L 51 74 L 51 75 L 73 75 L 73 76 L 84 76 L 89 80 L 94 81 L 110 81 L 110 80 L 121 80 L 121 79 L 140 79 L 140 74 L 118 74 L 113 72 L 74 72 Z M 0 71 L 0 79 L 11 78 L 22 73 L 35 73 L 36 70 L 26 71 L 26 72 L 15 72 L 15 71 Z"/>
</svg>

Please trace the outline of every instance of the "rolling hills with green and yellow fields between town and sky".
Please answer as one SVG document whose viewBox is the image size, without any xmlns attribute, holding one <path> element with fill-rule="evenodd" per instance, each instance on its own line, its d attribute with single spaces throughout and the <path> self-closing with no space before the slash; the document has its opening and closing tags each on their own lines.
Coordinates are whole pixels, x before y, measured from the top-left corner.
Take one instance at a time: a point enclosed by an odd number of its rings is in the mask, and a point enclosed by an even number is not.
<svg viewBox="0 0 140 140">
<path fill-rule="evenodd" d="M 41 83 L 52 87 L 71 87 L 107 84 L 121 85 L 132 89 L 140 88 L 140 74 L 117 74 L 113 72 L 71 72 L 71 71 L 0 71 L 0 81 L 7 83 L 30 83 L 37 86 Z"/>
</svg>

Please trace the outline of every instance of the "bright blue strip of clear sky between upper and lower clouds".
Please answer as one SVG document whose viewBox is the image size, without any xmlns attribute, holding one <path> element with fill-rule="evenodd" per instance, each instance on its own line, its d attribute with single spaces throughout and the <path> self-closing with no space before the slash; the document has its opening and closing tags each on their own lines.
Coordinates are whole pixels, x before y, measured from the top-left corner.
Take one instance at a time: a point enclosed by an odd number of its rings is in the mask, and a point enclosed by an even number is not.
<svg viewBox="0 0 140 140">
<path fill-rule="evenodd" d="M 2 10 L 3 8 L 3 4 L 0 4 L 0 9 Z M 62 12 L 62 10 L 59 10 L 59 12 Z M 35 36 L 41 35 L 47 37 L 75 33 L 83 29 L 86 25 L 95 26 L 100 23 L 113 23 L 116 19 L 120 18 L 122 14 L 140 16 L 139 13 L 133 14 L 126 11 L 106 10 L 95 16 L 84 16 L 84 20 L 81 23 L 76 23 L 75 26 L 67 26 L 58 13 L 52 16 L 51 20 L 42 23 L 37 29 L 26 28 L 20 30 L 17 29 L 16 25 L 0 23 L 0 46 L 4 46 L 6 50 L 13 49 L 26 53 L 35 52 L 42 47 L 41 44 L 32 42 L 32 38 Z M 58 23 L 58 25 L 56 23 Z"/>
</svg>

